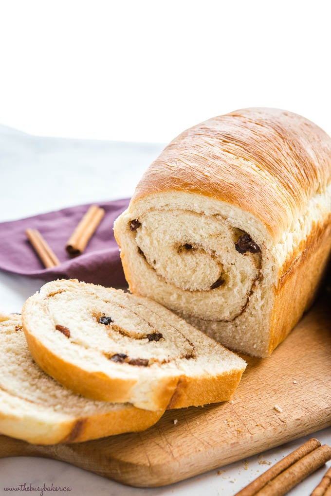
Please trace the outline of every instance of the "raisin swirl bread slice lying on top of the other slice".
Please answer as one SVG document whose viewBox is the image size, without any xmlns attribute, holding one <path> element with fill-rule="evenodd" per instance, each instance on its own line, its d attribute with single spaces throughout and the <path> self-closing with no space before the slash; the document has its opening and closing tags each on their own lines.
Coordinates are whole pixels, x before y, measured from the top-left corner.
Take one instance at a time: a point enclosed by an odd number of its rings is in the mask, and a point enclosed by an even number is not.
<svg viewBox="0 0 331 496">
<path fill-rule="evenodd" d="M 246 367 L 161 305 L 77 280 L 45 284 L 22 319 L 37 364 L 96 400 L 148 410 L 225 401 Z"/>
</svg>

